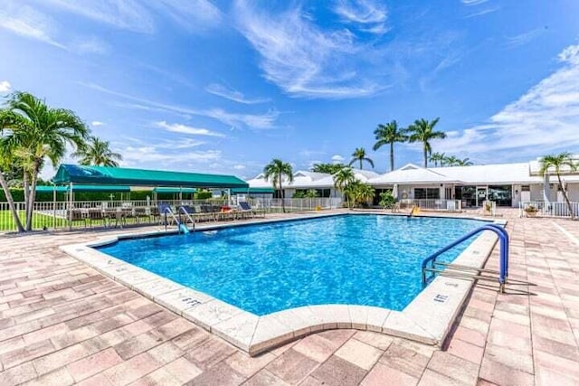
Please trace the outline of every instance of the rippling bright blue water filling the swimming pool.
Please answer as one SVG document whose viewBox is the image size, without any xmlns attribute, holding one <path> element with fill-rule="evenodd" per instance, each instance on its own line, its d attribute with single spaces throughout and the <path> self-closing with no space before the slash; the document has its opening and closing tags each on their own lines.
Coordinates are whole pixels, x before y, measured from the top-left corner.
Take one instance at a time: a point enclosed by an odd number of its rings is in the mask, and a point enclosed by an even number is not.
<svg viewBox="0 0 579 386">
<path fill-rule="evenodd" d="M 422 290 L 422 259 L 480 225 L 344 215 L 121 240 L 100 251 L 256 315 L 321 304 L 402 310 Z"/>
</svg>

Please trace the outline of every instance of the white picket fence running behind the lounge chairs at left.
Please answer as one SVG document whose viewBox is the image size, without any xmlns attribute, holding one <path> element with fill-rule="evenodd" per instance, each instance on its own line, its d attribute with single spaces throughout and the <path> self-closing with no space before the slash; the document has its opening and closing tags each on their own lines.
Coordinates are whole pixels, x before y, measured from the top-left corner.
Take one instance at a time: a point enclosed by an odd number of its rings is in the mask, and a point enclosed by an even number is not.
<svg viewBox="0 0 579 386">
<path fill-rule="evenodd" d="M 280 199 L 250 199 L 254 209 L 265 212 L 281 212 Z M 203 205 L 209 212 L 219 212 L 223 206 L 234 207 L 236 202 L 227 200 L 163 200 L 163 201 L 75 201 L 34 202 L 33 230 L 68 230 L 103 228 L 120 225 L 154 224 L 163 221 L 158 214 L 158 204 L 166 202 L 178 215 L 182 205 Z M 335 209 L 341 206 L 339 198 L 285 199 L 286 212 Z M 15 202 L 16 211 L 25 226 L 24 202 Z M 209 216 L 208 216 L 209 217 Z M 16 231 L 12 212 L 7 202 L 0 202 L 0 232 Z"/>
</svg>

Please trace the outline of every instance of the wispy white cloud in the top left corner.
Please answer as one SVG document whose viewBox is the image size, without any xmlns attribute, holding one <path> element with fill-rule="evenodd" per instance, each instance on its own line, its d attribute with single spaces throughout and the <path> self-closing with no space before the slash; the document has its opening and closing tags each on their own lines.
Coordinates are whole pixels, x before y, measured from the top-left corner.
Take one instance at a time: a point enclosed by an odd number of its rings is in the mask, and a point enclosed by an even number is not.
<svg viewBox="0 0 579 386">
<path fill-rule="evenodd" d="M 0 28 L 66 50 L 66 46 L 54 38 L 57 27 L 52 18 L 28 5 L 6 1 L 0 7 Z"/>
</svg>

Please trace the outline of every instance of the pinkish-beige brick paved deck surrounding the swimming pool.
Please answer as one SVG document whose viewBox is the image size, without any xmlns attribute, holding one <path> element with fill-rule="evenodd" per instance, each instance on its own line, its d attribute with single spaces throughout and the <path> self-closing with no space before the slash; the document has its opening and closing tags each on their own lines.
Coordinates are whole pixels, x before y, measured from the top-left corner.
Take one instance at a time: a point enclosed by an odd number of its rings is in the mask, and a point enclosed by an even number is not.
<svg viewBox="0 0 579 386">
<path fill-rule="evenodd" d="M 475 287 L 442 350 L 331 330 L 252 358 L 59 249 L 144 228 L 0 236 L 0 384 L 579 384 L 579 221 L 498 213 L 536 286 Z"/>
</svg>

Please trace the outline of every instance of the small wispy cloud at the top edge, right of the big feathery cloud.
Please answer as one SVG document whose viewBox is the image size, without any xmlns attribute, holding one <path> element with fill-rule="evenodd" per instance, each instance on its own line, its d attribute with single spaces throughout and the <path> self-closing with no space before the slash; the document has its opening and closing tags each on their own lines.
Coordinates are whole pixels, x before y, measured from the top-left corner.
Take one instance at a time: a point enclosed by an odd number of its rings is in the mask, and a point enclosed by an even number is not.
<svg viewBox="0 0 579 386">
<path fill-rule="evenodd" d="M 388 31 L 386 7 L 373 0 L 340 0 L 334 12 L 346 23 L 360 25 L 364 32 L 383 34 Z"/>
</svg>

